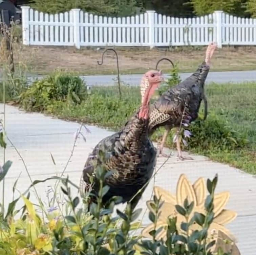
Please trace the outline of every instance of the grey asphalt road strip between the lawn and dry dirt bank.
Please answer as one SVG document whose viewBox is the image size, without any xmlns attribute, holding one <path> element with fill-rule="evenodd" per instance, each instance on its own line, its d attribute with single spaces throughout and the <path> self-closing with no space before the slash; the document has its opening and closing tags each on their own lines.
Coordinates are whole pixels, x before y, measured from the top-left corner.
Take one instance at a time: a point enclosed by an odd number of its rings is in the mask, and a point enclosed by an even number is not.
<svg viewBox="0 0 256 255">
<path fill-rule="evenodd" d="M 192 73 L 181 73 L 182 80 L 189 77 Z M 81 76 L 87 85 L 113 85 L 116 75 L 87 75 Z M 124 84 L 138 85 L 140 84 L 141 74 L 124 74 L 120 75 L 120 79 Z M 168 75 L 165 76 L 168 78 Z M 242 82 L 256 81 L 256 71 L 230 71 L 230 72 L 209 72 L 206 82 L 226 83 L 226 82 Z"/>
</svg>

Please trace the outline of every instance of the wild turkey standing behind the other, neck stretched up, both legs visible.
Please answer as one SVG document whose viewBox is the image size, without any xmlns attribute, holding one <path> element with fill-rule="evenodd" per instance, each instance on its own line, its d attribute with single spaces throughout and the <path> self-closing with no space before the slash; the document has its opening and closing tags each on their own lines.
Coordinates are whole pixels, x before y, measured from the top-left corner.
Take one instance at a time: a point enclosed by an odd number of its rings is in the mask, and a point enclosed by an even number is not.
<svg viewBox="0 0 256 255">
<path fill-rule="evenodd" d="M 206 118 L 207 101 L 204 94 L 204 84 L 210 69 L 209 61 L 215 48 L 216 44 L 209 44 L 205 61 L 198 67 L 196 72 L 175 87 L 170 88 L 150 106 L 149 133 L 152 134 L 156 128 L 161 126 L 166 128 L 158 155 L 168 156 L 163 153 L 163 148 L 170 129 L 173 127 L 179 128 L 181 121 L 189 124 L 196 120 L 202 99 L 205 100 Z M 176 145 L 179 159 L 192 159 L 182 156 L 180 139 L 176 139 Z"/>
</svg>

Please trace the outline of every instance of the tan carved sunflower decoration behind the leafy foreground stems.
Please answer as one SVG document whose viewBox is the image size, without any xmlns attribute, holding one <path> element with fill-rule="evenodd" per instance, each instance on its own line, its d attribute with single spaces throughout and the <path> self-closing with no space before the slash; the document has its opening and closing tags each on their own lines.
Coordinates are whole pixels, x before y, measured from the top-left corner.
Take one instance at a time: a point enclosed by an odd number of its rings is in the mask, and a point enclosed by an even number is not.
<svg viewBox="0 0 256 255">
<path fill-rule="evenodd" d="M 191 203 L 194 201 L 194 208 L 192 212 L 190 213 L 190 218 L 194 215 L 194 212 L 199 212 L 205 214 L 205 199 L 207 197 L 207 189 L 205 180 L 203 178 L 199 178 L 193 185 L 188 181 L 187 177 L 182 174 L 179 177 L 177 187 L 176 187 L 176 196 L 169 193 L 167 190 L 157 187 L 154 187 L 154 194 L 157 197 L 157 199 L 161 196 L 161 201 L 163 201 L 163 205 L 160 208 L 160 215 L 157 221 L 157 228 L 163 227 L 162 230 L 156 235 L 156 239 L 163 238 L 166 240 L 166 228 L 167 228 L 167 218 L 168 217 L 177 217 L 177 230 L 178 232 L 182 233 L 184 232 L 180 225 L 182 222 L 186 222 L 185 216 L 179 214 L 176 211 L 175 205 L 183 206 L 184 200 L 187 198 L 188 202 Z M 233 221 L 237 213 L 231 210 L 224 209 L 228 200 L 229 200 L 230 194 L 229 192 L 221 192 L 219 194 L 214 195 L 214 219 L 212 224 L 209 227 L 208 231 L 208 238 L 215 239 L 216 244 L 213 247 L 213 249 L 216 249 L 217 243 L 220 244 L 220 236 L 225 236 L 225 239 L 229 240 L 229 243 L 235 242 L 235 237 L 231 234 L 231 232 L 224 226 L 225 224 L 230 223 Z M 150 203 L 152 201 L 147 201 L 147 207 L 150 211 L 154 212 L 154 210 L 151 208 Z M 142 235 L 144 237 L 151 238 L 149 232 L 154 229 L 154 224 L 150 224 L 149 226 L 145 227 L 142 231 Z M 190 227 L 190 234 L 195 230 L 202 230 L 202 227 L 198 225 L 196 222 Z M 223 239 L 222 239 L 223 240 Z M 224 242 L 222 241 L 224 244 Z M 225 244 L 224 244 L 225 246 Z M 235 246 L 233 244 L 233 246 Z M 225 248 L 225 247 L 224 247 Z M 237 249 L 235 246 L 234 248 Z M 223 249 L 223 247 L 222 247 Z M 238 251 L 238 249 L 237 249 Z M 240 253 L 232 253 L 233 254 L 240 254 Z"/>
</svg>

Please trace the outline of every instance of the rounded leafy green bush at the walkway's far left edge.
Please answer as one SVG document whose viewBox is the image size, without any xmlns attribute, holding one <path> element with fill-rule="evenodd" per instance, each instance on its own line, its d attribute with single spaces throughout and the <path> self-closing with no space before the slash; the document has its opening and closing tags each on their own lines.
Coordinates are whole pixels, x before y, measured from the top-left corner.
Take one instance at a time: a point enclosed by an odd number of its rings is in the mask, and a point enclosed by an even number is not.
<svg viewBox="0 0 256 255">
<path fill-rule="evenodd" d="M 25 110 L 44 111 L 54 101 L 79 104 L 86 97 L 86 88 L 78 76 L 55 72 L 52 75 L 33 82 L 20 95 L 20 105 Z"/>
</svg>

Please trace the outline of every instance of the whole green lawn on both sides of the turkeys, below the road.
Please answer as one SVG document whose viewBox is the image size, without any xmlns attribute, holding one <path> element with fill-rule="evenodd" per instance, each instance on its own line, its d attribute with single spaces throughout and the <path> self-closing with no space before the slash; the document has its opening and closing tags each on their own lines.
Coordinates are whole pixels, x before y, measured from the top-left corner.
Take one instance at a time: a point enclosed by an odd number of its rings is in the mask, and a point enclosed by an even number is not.
<svg viewBox="0 0 256 255">
<path fill-rule="evenodd" d="M 94 88 L 80 105 L 54 102 L 47 112 L 59 118 L 118 130 L 140 105 L 138 87 L 123 86 L 122 93 L 120 101 L 117 87 Z M 213 83 L 206 86 L 206 94 L 209 115 L 206 122 L 191 125 L 194 137 L 189 150 L 255 174 L 256 83 Z M 162 133 L 163 128 L 153 139 Z M 171 135 L 167 146 L 173 146 Z"/>
</svg>

